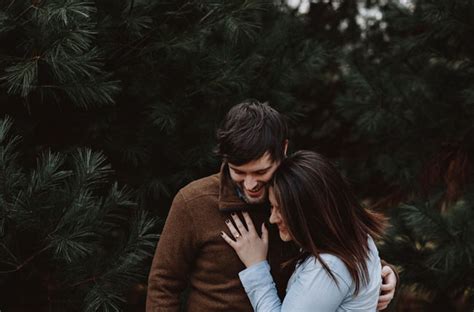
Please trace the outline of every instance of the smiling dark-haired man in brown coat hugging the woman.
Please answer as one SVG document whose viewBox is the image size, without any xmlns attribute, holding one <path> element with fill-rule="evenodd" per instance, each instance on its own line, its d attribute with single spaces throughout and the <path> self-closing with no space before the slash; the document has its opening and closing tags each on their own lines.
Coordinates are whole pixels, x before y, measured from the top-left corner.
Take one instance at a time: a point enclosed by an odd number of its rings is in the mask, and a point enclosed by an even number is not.
<svg viewBox="0 0 474 312">
<path fill-rule="evenodd" d="M 220 232 L 233 212 L 247 211 L 256 225 L 268 220 L 267 183 L 286 155 L 287 137 L 283 117 L 266 103 L 246 101 L 228 112 L 217 132 L 220 173 L 191 182 L 174 198 L 150 271 L 147 311 L 179 311 L 185 289 L 187 311 L 253 311 L 238 277 L 245 267 Z M 269 241 L 272 275 L 284 295 L 291 270 L 282 263 L 294 253 L 274 228 Z M 389 282 L 379 308 L 395 291 L 395 273 L 384 272 Z"/>
</svg>

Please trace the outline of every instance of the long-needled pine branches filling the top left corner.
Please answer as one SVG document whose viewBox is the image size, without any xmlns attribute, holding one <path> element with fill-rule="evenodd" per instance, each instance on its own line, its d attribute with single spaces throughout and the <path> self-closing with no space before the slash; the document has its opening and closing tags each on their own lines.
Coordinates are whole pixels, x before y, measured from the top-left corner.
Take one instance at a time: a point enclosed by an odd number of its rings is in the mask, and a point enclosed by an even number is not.
<svg viewBox="0 0 474 312">
<path fill-rule="evenodd" d="M 91 1 L 9 1 L 0 26 L 13 41 L 0 78 L 7 92 L 25 99 L 64 95 L 85 108 L 112 103 L 119 86 L 93 43 L 96 11 Z"/>
</svg>

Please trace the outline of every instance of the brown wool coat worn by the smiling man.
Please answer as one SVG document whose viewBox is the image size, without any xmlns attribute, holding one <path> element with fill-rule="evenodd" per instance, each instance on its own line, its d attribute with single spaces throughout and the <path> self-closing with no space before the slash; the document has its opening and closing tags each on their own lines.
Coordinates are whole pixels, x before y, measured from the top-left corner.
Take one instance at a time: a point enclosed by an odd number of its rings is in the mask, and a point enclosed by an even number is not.
<svg viewBox="0 0 474 312">
<path fill-rule="evenodd" d="M 229 233 L 225 220 L 235 211 L 248 211 L 257 229 L 270 215 L 268 204 L 248 205 L 236 195 L 225 164 L 219 174 L 178 192 L 151 266 L 147 312 L 179 311 L 187 288 L 186 311 L 253 311 L 238 277 L 245 266 L 220 236 Z M 282 270 L 281 263 L 291 256 L 291 246 L 281 242 L 276 228 L 269 232 L 268 259 L 283 294 L 291 270 Z"/>
</svg>

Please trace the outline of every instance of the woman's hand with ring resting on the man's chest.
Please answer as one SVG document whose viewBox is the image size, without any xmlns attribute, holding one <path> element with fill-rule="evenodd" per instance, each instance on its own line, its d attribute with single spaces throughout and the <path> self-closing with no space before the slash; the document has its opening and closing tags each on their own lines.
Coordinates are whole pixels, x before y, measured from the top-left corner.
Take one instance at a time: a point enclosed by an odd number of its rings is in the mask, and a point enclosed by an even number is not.
<svg viewBox="0 0 474 312">
<path fill-rule="evenodd" d="M 253 226 L 252 219 L 247 212 L 244 216 L 247 227 L 242 224 L 237 214 L 232 214 L 235 226 L 230 219 L 226 220 L 227 227 L 232 233 L 234 239 L 230 238 L 226 233 L 221 232 L 222 238 L 237 252 L 240 260 L 249 267 L 267 259 L 268 252 L 268 231 L 265 224 L 262 224 L 262 237 L 260 238 Z"/>
</svg>

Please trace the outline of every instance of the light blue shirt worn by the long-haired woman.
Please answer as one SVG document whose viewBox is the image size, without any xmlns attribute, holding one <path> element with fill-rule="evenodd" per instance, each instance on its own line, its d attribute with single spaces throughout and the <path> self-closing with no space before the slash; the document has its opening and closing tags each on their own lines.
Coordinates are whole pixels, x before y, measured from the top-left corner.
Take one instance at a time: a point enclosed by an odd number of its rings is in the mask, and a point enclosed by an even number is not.
<svg viewBox="0 0 474 312">
<path fill-rule="evenodd" d="M 376 311 L 382 283 L 381 264 L 377 247 L 370 237 L 368 244 L 369 281 L 361 282 L 357 296 L 354 296 L 355 283 L 345 264 L 331 254 L 321 254 L 321 258 L 338 285 L 315 257 L 308 257 L 291 275 L 283 303 L 267 261 L 248 267 L 239 273 L 239 277 L 256 312 Z"/>
</svg>

